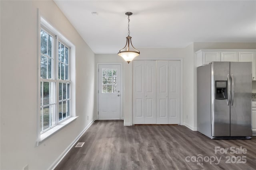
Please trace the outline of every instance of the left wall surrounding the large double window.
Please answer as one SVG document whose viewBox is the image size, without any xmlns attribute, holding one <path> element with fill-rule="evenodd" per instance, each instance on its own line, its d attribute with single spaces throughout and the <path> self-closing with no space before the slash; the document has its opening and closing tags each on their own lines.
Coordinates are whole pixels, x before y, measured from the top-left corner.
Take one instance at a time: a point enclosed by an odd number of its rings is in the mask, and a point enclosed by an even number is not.
<svg viewBox="0 0 256 170">
<path fill-rule="evenodd" d="M 38 147 L 37 8 L 76 46 L 76 115 L 79 116 Z M 22 169 L 28 164 L 29 169 L 45 170 L 94 118 L 94 53 L 53 1 L 1 0 L 0 17 L 0 169 Z"/>
</svg>

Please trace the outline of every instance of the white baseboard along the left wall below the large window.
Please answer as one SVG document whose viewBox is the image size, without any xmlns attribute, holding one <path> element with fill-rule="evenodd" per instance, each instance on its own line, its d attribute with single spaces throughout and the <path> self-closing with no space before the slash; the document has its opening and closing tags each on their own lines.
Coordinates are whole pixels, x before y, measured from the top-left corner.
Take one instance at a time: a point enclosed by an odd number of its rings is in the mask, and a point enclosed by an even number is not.
<svg viewBox="0 0 256 170">
<path fill-rule="evenodd" d="M 64 158 L 64 156 L 66 156 L 66 154 L 69 152 L 70 149 L 72 149 L 74 147 L 74 145 L 76 144 L 76 142 L 80 139 L 80 137 L 84 134 L 84 132 L 92 125 L 92 123 L 95 121 L 96 119 L 94 118 L 89 125 L 87 125 L 84 130 L 76 137 L 76 139 L 62 152 L 62 154 L 60 154 L 60 156 L 53 162 L 53 164 L 47 169 L 47 170 L 54 170 L 54 168 L 56 168 L 56 166 L 58 166 L 58 164 L 62 161 L 62 159 Z"/>
</svg>

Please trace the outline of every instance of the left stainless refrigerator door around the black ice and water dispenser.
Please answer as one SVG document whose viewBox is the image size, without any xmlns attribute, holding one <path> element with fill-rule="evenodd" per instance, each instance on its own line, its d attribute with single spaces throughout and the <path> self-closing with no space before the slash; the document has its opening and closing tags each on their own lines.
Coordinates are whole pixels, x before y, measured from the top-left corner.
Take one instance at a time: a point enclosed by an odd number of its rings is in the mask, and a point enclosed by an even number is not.
<svg viewBox="0 0 256 170">
<path fill-rule="evenodd" d="M 230 74 L 230 62 L 212 62 L 212 136 L 226 137 L 230 136 L 230 104 L 228 99 L 216 99 L 215 82 L 217 80 L 227 80 Z M 227 84 L 228 86 L 228 84 Z M 230 90 L 229 88 L 227 89 Z M 229 94 L 229 93 L 228 93 Z M 218 97 L 217 97 L 218 98 Z"/>
</svg>

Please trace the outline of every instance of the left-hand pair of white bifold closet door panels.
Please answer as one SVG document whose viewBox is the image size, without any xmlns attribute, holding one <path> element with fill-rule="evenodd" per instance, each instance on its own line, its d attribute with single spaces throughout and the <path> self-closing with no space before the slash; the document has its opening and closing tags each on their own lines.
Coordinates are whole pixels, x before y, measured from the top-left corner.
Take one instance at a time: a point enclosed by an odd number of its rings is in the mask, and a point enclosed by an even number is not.
<svg viewBox="0 0 256 170">
<path fill-rule="evenodd" d="M 156 61 L 133 62 L 133 124 L 156 124 Z"/>
</svg>

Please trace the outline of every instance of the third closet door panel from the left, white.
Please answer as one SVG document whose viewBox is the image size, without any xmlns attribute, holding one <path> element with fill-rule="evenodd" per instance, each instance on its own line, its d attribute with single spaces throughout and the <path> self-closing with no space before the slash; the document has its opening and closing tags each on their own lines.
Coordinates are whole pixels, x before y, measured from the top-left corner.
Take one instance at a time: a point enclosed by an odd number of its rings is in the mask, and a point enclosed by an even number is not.
<svg viewBox="0 0 256 170">
<path fill-rule="evenodd" d="M 156 61 L 156 124 L 168 124 L 168 62 Z"/>
</svg>

